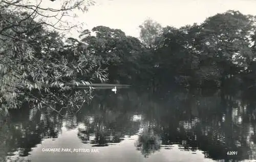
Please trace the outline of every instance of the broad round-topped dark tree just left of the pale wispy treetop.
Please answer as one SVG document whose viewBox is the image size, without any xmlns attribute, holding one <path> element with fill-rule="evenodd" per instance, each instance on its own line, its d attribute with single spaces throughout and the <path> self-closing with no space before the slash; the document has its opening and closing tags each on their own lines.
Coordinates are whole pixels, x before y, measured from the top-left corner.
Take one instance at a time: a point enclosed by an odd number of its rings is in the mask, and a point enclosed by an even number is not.
<svg viewBox="0 0 256 162">
<path fill-rule="evenodd" d="M 139 66 L 138 58 L 142 50 L 140 41 L 126 36 L 121 30 L 106 26 L 96 26 L 92 32 L 96 36 L 92 36 L 89 31 L 82 32 L 81 41 L 91 53 L 105 61 L 103 67 L 109 69 L 110 82 L 129 82 Z"/>
</svg>

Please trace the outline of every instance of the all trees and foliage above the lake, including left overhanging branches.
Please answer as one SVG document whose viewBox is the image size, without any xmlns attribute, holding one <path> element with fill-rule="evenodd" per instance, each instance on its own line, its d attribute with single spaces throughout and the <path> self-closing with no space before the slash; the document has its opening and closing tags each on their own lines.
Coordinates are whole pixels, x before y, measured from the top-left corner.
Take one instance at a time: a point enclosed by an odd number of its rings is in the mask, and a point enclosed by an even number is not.
<svg viewBox="0 0 256 162">
<path fill-rule="evenodd" d="M 93 89 L 77 87 L 255 87 L 255 16 L 230 10 L 179 29 L 147 19 L 139 26 L 140 38 L 96 26 L 80 32 L 79 39 L 63 41 L 60 31 L 78 26 L 66 28 L 47 19 L 56 12 L 87 11 L 86 2 L 63 3 L 58 11 L 41 8 L 40 3 L 0 3 L 5 8 L 0 17 L 1 112 L 24 103 L 77 112 L 94 95 Z"/>
</svg>

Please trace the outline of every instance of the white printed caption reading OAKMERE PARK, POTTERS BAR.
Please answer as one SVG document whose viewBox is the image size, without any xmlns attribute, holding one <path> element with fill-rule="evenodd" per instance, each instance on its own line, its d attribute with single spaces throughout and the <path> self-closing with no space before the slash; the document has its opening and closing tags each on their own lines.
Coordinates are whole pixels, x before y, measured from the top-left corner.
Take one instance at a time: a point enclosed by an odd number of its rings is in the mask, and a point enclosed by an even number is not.
<svg viewBox="0 0 256 162">
<path fill-rule="evenodd" d="M 98 149 L 84 149 L 84 148 L 42 148 L 42 152 L 86 152 L 86 153 L 99 153 Z"/>
</svg>

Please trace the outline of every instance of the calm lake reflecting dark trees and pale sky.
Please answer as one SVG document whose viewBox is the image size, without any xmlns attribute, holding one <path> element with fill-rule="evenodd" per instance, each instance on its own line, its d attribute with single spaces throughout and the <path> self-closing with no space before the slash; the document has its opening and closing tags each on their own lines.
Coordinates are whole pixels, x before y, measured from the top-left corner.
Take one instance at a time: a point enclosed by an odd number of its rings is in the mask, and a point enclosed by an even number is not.
<svg viewBox="0 0 256 162">
<path fill-rule="evenodd" d="M 75 115 L 24 107 L 0 123 L 0 160 L 253 161 L 256 101 L 247 96 L 100 89 Z"/>
</svg>

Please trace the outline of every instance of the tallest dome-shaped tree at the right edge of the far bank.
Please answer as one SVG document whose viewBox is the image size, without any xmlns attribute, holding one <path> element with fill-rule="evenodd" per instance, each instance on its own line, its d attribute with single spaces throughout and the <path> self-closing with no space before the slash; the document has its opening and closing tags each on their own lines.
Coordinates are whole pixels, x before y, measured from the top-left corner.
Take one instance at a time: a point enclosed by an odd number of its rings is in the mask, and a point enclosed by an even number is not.
<svg viewBox="0 0 256 162">
<path fill-rule="evenodd" d="M 196 38 L 201 66 L 214 66 L 224 83 L 228 75 L 237 75 L 247 68 L 252 57 L 250 35 L 255 31 L 251 15 L 227 11 L 207 18 Z"/>
</svg>

